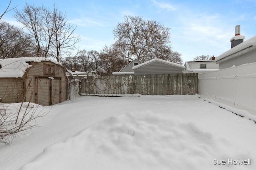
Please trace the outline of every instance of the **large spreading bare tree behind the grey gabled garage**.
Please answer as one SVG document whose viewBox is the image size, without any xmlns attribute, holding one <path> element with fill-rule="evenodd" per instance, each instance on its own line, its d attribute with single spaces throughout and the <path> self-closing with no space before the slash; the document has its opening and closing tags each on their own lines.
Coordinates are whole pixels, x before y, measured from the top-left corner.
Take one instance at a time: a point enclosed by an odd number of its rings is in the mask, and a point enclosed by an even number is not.
<svg viewBox="0 0 256 170">
<path fill-rule="evenodd" d="M 170 50 L 170 28 L 154 20 L 143 20 L 140 16 L 125 16 L 123 23 L 114 29 L 114 46 L 126 52 L 126 57 L 135 57 L 144 62 L 159 58 Z M 128 56 L 127 56 L 128 54 Z"/>
</svg>

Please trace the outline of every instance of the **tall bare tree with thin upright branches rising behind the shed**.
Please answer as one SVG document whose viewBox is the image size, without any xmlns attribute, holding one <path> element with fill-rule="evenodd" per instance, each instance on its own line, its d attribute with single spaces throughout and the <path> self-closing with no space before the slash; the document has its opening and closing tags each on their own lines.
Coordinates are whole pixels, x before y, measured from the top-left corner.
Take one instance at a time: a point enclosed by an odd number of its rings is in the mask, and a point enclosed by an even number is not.
<svg viewBox="0 0 256 170">
<path fill-rule="evenodd" d="M 64 53 L 73 50 L 80 41 L 74 36 L 76 27 L 66 20 L 66 14 L 53 7 L 53 11 L 45 6 L 35 7 L 26 4 L 21 10 L 15 10 L 15 18 L 28 30 L 33 39 L 33 47 L 38 57 L 53 57 L 58 62 Z"/>
</svg>

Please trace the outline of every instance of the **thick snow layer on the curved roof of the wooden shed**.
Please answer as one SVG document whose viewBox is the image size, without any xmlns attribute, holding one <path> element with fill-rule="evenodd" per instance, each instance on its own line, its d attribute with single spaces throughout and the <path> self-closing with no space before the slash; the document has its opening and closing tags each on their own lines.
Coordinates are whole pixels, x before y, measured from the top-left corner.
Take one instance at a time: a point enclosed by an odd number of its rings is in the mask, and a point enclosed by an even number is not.
<svg viewBox="0 0 256 170">
<path fill-rule="evenodd" d="M 20 57 L 11 59 L 0 59 L 0 78 L 18 78 L 22 77 L 26 70 L 32 65 L 29 62 L 41 62 L 41 61 L 51 61 L 52 63 L 60 63 L 44 58 L 44 57 Z"/>
</svg>

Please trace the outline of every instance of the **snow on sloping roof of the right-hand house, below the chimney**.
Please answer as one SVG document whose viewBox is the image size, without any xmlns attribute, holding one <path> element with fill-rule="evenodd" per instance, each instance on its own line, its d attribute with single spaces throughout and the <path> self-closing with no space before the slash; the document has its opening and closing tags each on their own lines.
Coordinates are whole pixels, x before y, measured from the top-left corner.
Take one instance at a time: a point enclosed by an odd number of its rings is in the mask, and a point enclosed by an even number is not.
<svg viewBox="0 0 256 170">
<path fill-rule="evenodd" d="M 237 45 L 236 47 L 233 47 L 232 49 L 229 49 L 228 51 L 226 51 L 225 53 L 219 55 L 215 61 L 219 61 L 225 57 L 228 57 L 238 51 L 241 51 L 243 49 L 246 49 L 247 47 L 251 47 L 251 46 L 256 46 L 256 35 L 242 43 L 240 43 L 239 45 Z"/>
</svg>

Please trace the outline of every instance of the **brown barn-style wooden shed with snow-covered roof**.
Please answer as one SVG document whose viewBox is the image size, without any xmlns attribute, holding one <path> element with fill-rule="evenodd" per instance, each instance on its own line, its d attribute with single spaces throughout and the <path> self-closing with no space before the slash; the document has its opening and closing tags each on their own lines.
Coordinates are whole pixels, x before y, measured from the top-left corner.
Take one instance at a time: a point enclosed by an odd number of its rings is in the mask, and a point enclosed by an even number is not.
<svg viewBox="0 0 256 170">
<path fill-rule="evenodd" d="M 0 102 L 33 102 L 42 106 L 68 98 L 64 67 L 48 58 L 0 59 Z"/>
</svg>

